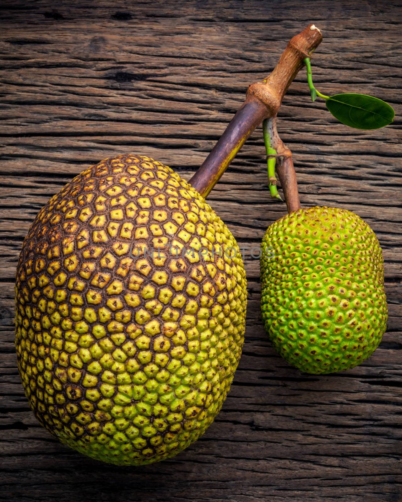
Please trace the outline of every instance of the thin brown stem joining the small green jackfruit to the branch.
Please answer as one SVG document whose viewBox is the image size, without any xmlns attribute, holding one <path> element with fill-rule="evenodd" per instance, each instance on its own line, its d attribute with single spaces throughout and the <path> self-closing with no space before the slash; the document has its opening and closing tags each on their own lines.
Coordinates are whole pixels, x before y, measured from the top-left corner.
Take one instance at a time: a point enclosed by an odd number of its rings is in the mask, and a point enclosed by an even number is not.
<svg viewBox="0 0 402 502">
<path fill-rule="evenodd" d="M 292 153 L 279 138 L 276 129 L 276 115 L 266 121 L 266 134 L 269 136 L 271 147 L 276 150 L 276 171 L 285 197 L 287 212 L 297 211 L 297 209 L 300 209 L 300 200 Z"/>
</svg>

